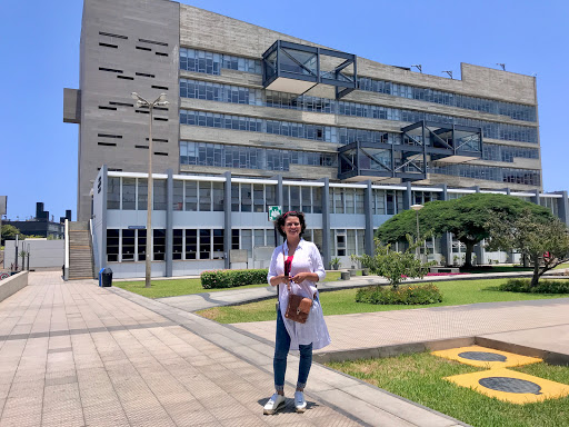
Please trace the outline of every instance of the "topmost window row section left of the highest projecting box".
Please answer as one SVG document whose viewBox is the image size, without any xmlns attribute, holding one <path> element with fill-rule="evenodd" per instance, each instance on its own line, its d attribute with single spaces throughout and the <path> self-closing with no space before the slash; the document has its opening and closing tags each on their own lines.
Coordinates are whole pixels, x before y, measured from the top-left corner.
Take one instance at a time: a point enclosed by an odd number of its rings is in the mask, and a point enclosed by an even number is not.
<svg viewBox="0 0 569 427">
<path fill-rule="evenodd" d="M 222 68 L 257 75 L 262 72 L 260 60 L 180 48 L 180 69 L 182 70 L 219 76 Z"/>
</svg>

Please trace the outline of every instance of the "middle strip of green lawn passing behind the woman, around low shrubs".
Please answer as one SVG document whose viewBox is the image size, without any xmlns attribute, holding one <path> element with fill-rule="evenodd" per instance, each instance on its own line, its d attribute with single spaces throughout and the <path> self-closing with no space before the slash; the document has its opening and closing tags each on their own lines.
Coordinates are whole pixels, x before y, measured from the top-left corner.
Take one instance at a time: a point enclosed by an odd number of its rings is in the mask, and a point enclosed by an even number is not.
<svg viewBox="0 0 569 427">
<path fill-rule="evenodd" d="M 549 299 L 569 297 L 569 295 L 536 295 L 522 292 L 505 292 L 497 289 L 507 279 L 451 280 L 436 282 L 442 292 L 442 302 L 429 306 L 380 306 L 356 302 L 357 289 L 342 289 L 320 294 L 322 309 L 328 315 L 348 315 L 355 312 L 405 310 L 421 307 L 458 306 L 473 302 L 520 301 L 530 299 Z M 198 314 L 221 324 L 242 321 L 272 320 L 276 298 L 232 307 L 216 307 Z"/>
</svg>

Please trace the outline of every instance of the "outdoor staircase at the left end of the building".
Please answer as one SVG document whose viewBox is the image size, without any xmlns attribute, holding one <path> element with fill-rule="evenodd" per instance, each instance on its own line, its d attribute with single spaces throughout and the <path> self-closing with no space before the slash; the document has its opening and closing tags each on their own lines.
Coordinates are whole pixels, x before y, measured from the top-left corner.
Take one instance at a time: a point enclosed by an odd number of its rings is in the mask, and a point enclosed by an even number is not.
<svg viewBox="0 0 569 427">
<path fill-rule="evenodd" d="M 89 222 L 69 222 L 69 280 L 94 277 Z"/>
</svg>

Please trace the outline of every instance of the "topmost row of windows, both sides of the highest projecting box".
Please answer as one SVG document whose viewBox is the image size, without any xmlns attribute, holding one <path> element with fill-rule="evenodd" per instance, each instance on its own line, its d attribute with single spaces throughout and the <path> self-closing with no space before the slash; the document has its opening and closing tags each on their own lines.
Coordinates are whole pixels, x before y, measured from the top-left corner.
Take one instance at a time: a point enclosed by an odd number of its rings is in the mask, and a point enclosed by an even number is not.
<svg viewBox="0 0 569 427">
<path fill-rule="evenodd" d="M 207 52 L 203 50 L 180 48 L 180 69 L 182 70 L 204 72 L 209 75 L 220 75 L 221 68 L 253 72 L 258 75 L 262 73 L 262 66 L 260 60 Z M 393 83 L 386 80 L 376 80 L 367 77 L 358 78 L 358 89 L 378 93 L 387 93 L 395 97 L 416 99 L 426 102 L 433 102 L 443 106 L 463 108 L 468 110 L 481 111 L 490 115 L 508 116 L 516 120 L 537 120 L 536 107 L 520 103 L 495 101 L 490 99 L 469 97 L 466 95 L 446 92 L 429 88 Z M 296 103 L 295 99 L 298 99 L 298 97 L 290 95 L 289 97 L 291 103 Z M 287 102 L 284 101 L 282 105 L 286 106 Z M 322 112 L 332 112 L 326 111 L 325 105 L 322 105 L 321 108 L 323 108 L 321 110 Z"/>
</svg>

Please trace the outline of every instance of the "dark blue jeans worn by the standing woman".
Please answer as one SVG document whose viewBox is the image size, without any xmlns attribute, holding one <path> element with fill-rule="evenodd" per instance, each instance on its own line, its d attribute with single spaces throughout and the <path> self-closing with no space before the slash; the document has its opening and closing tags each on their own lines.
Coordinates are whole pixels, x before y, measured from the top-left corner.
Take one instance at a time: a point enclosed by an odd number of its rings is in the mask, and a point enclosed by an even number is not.
<svg viewBox="0 0 569 427">
<path fill-rule="evenodd" d="M 277 309 L 277 337 L 274 339 L 274 359 L 272 368 L 274 370 L 274 389 L 282 391 L 284 389 L 284 373 L 287 371 L 287 355 L 290 348 L 290 337 L 282 321 L 280 309 Z M 298 365 L 297 388 L 303 389 L 307 385 L 308 373 L 312 366 L 312 344 L 299 345 L 300 363 Z"/>
</svg>

